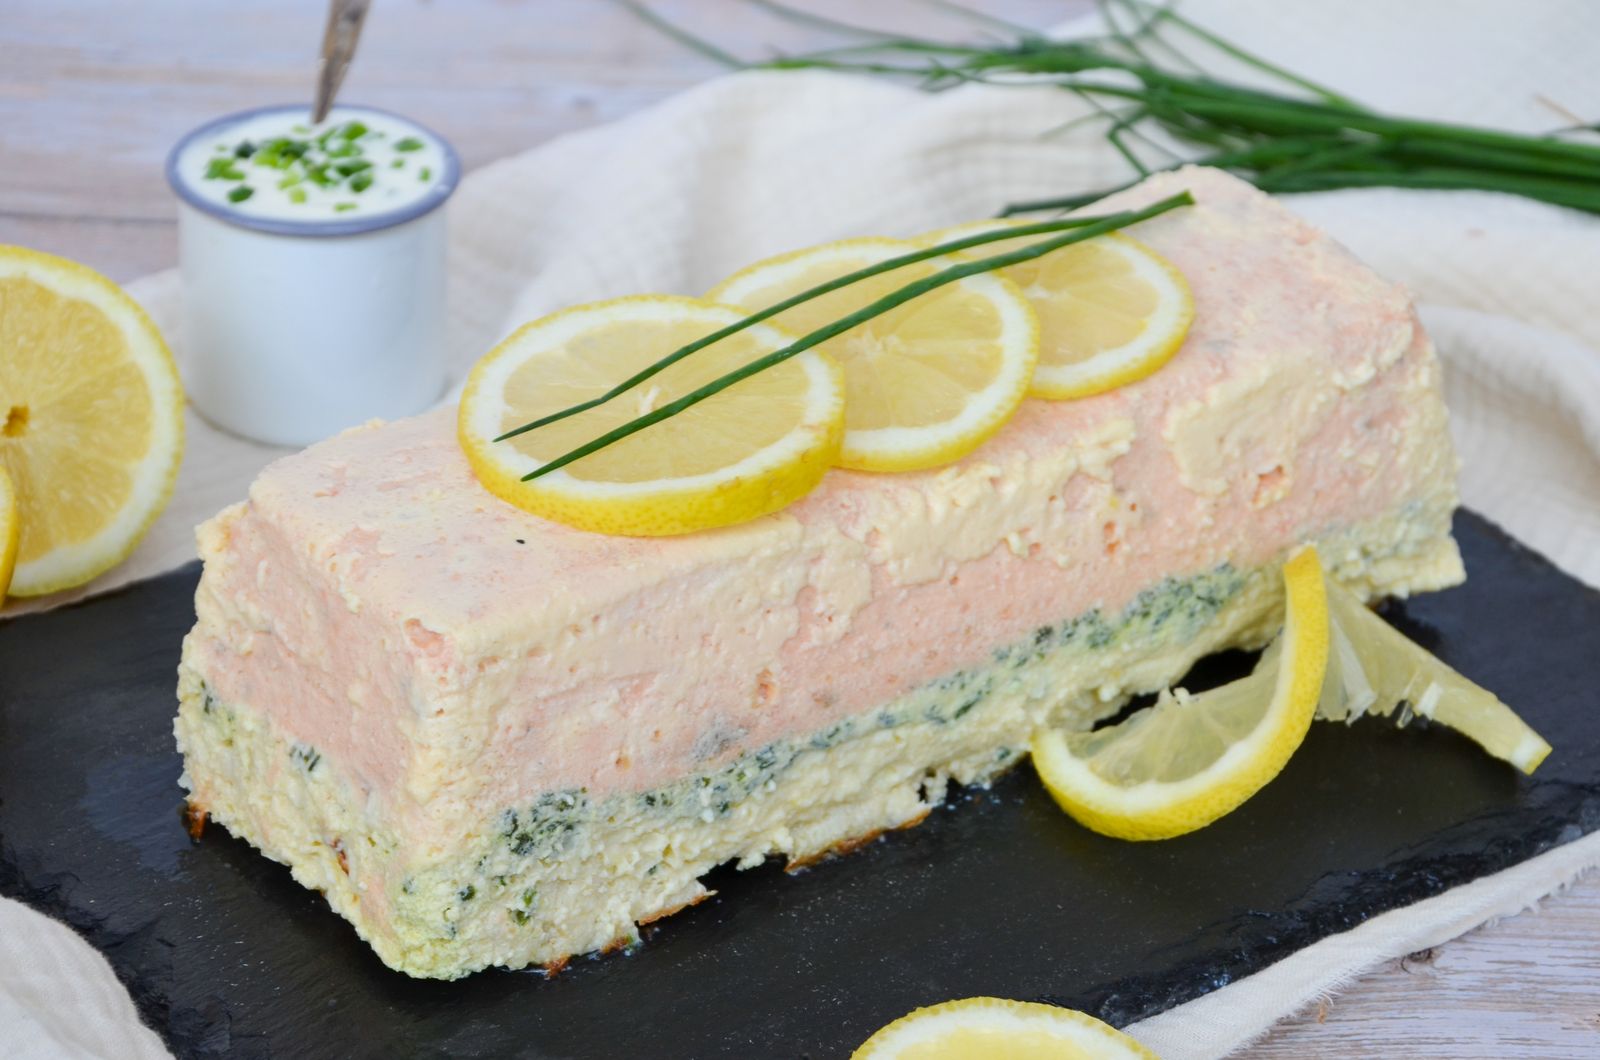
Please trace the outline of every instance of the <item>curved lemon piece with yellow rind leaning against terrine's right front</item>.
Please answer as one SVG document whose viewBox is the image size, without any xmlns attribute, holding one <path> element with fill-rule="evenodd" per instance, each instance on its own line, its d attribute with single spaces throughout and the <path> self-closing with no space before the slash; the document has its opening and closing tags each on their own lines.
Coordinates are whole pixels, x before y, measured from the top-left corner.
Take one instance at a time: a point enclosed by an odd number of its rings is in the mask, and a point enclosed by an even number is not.
<svg viewBox="0 0 1600 1060">
<path fill-rule="evenodd" d="M 1163 692 L 1096 732 L 1034 735 L 1034 767 L 1067 813 L 1118 839 L 1168 839 L 1232 812 L 1294 754 L 1328 663 L 1328 604 L 1312 548 L 1283 564 L 1283 632 L 1254 671 L 1197 695 Z"/>
</svg>

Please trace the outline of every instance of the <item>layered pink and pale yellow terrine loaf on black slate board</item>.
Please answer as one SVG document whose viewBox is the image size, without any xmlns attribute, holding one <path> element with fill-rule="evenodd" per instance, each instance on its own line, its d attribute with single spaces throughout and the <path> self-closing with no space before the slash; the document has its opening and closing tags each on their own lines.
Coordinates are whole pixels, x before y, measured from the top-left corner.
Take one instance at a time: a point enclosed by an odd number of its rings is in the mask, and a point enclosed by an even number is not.
<svg viewBox="0 0 1600 1060">
<path fill-rule="evenodd" d="M 1133 234 L 1189 279 L 1162 371 L 1029 400 L 949 468 L 834 471 L 682 538 L 480 488 L 450 410 L 278 461 L 200 528 L 190 802 L 411 975 L 626 946 L 736 860 L 920 820 L 1277 628 L 1315 541 L 1366 596 L 1461 580 L 1438 365 L 1406 295 L 1211 170 Z"/>
</svg>

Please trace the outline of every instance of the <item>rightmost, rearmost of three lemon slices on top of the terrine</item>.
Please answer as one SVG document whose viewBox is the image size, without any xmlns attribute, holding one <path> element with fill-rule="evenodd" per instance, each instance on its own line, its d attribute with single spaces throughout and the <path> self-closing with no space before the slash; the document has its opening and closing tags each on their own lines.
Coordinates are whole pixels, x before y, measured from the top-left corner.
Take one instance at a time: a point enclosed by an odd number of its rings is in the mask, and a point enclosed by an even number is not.
<svg viewBox="0 0 1600 1060">
<path fill-rule="evenodd" d="M 946 243 L 1021 221 L 973 221 L 923 235 Z M 989 258 L 1046 235 L 1006 239 L 960 251 Z M 1029 391 L 1056 400 L 1090 397 L 1146 378 L 1171 360 L 1195 306 L 1184 274 L 1122 232 L 1098 235 L 1002 271 L 1038 314 L 1038 367 Z"/>
</svg>

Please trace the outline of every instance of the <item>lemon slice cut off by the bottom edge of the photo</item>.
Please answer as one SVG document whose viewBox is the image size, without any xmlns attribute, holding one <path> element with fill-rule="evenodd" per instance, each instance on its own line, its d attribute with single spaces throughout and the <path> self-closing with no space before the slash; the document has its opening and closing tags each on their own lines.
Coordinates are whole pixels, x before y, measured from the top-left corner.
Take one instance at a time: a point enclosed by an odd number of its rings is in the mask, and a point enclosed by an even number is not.
<svg viewBox="0 0 1600 1060">
<path fill-rule="evenodd" d="M 1155 1054 L 1077 1009 L 963 998 L 902 1015 L 851 1060 L 1155 1060 Z"/>
</svg>

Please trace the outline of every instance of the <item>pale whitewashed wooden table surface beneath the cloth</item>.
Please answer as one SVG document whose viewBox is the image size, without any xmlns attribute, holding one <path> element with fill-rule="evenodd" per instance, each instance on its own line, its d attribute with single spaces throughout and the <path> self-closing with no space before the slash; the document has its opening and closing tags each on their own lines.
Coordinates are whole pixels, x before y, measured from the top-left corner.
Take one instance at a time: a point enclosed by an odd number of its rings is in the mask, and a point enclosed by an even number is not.
<svg viewBox="0 0 1600 1060">
<path fill-rule="evenodd" d="M 795 2 L 845 19 L 870 11 L 888 29 L 971 32 L 909 0 Z M 827 40 L 733 0 L 658 6 L 742 54 Z M 1090 0 L 982 6 L 1048 26 Z M 174 264 L 166 147 L 218 114 L 304 98 L 320 34 L 317 0 L 3 0 L 0 243 L 117 280 Z M 717 72 L 598 0 L 382 0 L 344 98 L 438 128 L 470 170 Z M 1600 1057 L 1600 879 L 1379 969 L 1246 1055 Z"/>
</svg>

